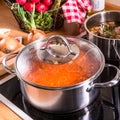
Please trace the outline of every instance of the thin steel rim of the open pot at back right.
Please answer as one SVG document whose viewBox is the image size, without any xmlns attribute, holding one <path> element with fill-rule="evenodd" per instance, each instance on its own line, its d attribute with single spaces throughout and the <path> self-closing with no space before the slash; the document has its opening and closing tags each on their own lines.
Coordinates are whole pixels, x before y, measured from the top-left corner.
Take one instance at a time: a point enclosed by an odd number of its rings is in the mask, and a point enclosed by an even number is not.
<svg viewBox="0 0 120 120">
<path fill-rule="evenodd" d="M 98 35 L 90 32 L 89 29 L 88 29 L 88 27 L 87 27 L 87 22 L 88 22 L 91 18 L 95 17 L 96 15 L 105 14 L 105 13 L 114 13 L 114 12 L 120 13 L 119 10 L 107 10 L 107 11 L 97 12 L 97 13 L 89 16 L 89 17 L 84 21 L 85 30 L 86 30 L 89 34 L 92 34 L 93 36 L 98 37 L 98 38 L 101 38 L 101 39 L 104 39 L 104 40 L 120 40 L 120 39 L 116 39 L 116 38 L 106 38 L 106 37 L 98 36 Z"/>
</svg>

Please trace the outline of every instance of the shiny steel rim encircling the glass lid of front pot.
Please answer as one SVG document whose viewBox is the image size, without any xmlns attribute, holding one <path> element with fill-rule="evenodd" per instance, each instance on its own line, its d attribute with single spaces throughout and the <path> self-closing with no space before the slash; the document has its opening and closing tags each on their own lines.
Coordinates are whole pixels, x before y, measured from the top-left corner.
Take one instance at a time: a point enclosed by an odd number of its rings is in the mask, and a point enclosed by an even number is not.
<svg viewBox="0 0 120 120">
<path fill-rule="evenodd" d="M 70 36 L 68 36 L 68 37 L 70 37 Z M 72 36 L 71 36 L 71 37 L 72 37 Z M 78 39 L 78 38 L 76 38 L 76 39 Z M 22 76 L 20 75 L 19 70 L 17 69 L 17 59 L 19 58 L 19 55 L 20 55 L 25 49 L 27 49 L 27 47 L 31 46 L 32 44 L 34 44 L 34 43 L 36 43 L 36 42 L 38 42 L 38 41 L 43 42 L 43 41 L 45 41 L 46 39 L 36 40 L 36 41 L 34 41 L 34 42 L 26 45 L 26 46 L 18 53 L 18 55 L 16 56 L 15 63 L 14 63 L 14 68 L 15 68 L 15 73 L 16 73 L 16 75 L 18 76 L 18 78 L 20 79 L 20 81 L 23 81 L 23 82 L 25 82 L 25 83 L 33 86 L 33 87 L 41 88 L 41 89 L 44 89 L 44 90 L 70 90 L 70 89 L 74 89 L 74 88 L 81 87 L 81 86 L 83 86 L 83 85 L 85 85 L 85 84 L 87 84 L 87 83 L 93 82 L 93 81 L 102 73 L 102 71 L 103 71 L 103 69 L 104 69 L 104 66 L 105 66 L 105 58 L 104 58 L 104 55 L 103 55 L 103 53 L 101 52 L 101 50 L 100 50 L 94 43 L 92 43 L 92 42 L 90 42 L 90 41 L 88 41 L 88 40 L 86 40 L 86 39 L 83 39 L 83 38 L 81 38 L 81 39 L 84 40 L 84 41 L 87 41 L 87 42 L 90 43 L 93 47 L 95 47 L 95 48 L 98 50 L 98 52 L 99 52 L 99 54 L 100 54 L 100 56 L 101 56 L 101 59 L 102 59 L 102 60 L 101 60 L 102 63 L 100 63 L 99 69 L 98 69 L 98 70 L 96 71 L 96 73 L 95 73 L 94 75 L 92 75 L 90 78 L 88 78 L 88 79 L 86 79 L 86 80 L 84 80 L 84 81 L 82 81 L 82 82 L 76 83 L 76 84 L 74 84 L 74 85 L 62 86 L 62 87 L 49 87 L 49 86 L 37 85 L 37 84 L 35 84 L 35 83 L 30 82 L 29 80 L 23 79 Z"/>
</svg>

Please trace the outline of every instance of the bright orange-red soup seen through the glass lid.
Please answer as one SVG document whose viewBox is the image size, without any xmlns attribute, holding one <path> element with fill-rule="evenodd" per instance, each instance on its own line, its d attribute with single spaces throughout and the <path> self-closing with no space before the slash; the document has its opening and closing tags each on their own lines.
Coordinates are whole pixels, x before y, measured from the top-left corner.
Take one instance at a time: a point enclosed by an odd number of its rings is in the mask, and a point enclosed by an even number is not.
<svg viewBox="0 0 120 120">
<path fill-rule="evenodd" d="M 31 61 L 31 69 L 27 70 L 24 78 L 32 83 L 62 87 L 80 83 L 96 73 L 100 63 L 93 55 L 84 51 L 74 60 L 65 64 L 48 64 L 39 60 Z"/>
</svg>

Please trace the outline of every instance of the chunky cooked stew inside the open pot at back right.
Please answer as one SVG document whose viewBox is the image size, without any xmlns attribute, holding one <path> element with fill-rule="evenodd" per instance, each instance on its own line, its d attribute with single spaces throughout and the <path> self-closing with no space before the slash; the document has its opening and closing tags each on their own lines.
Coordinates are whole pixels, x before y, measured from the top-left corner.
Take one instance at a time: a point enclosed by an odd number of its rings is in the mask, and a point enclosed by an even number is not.
<svg viewBox="0 0 120 120">
<path fill-rule="evenodd" d="M 104 22 L 89 28 L 89 30 L 98 36 L 120 39 L 120 22 Z"/>
</svg>

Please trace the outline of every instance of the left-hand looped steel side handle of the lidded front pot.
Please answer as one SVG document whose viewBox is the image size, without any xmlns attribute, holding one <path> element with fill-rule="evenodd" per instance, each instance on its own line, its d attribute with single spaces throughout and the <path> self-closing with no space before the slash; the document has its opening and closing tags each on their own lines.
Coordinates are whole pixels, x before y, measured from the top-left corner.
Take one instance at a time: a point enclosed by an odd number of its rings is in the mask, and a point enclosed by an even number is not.
<svg viewBox="0 0 120 120">
<path fill-rule="evenodd" d="M 13 55 L 17 55 L 18 52 L 14 52 L 14 53 L 9 53 L 7 54 L 3 59 L 2 59 L 2 66 L 5 68 L 6 71 L 8 71 L 9 73 L 13 73 L 15 74 L 15 70 L 10 68 L 8 65 L 7 65 L 7 60 L 10 56 L 13 56 Z"/>
</svg>

